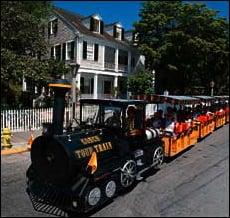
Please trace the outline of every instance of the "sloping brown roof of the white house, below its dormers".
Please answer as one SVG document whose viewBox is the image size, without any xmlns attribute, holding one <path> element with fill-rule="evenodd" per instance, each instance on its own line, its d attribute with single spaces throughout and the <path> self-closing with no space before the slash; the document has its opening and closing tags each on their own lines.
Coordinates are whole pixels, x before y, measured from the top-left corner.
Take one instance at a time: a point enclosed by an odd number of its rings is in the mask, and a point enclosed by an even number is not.
<svg viewBox="0 0 230 218">
<path fill-rule="evenodd" d="M 97 33 L 90 31 L 87 27 L 85 27 L 81 23 L 81 20 L 84 19 L 84 16 L 82 16 L 80 14 L 69 12 L 69 11 L 66 11 L 66 10 L 63 10 L 63 9 L 57 8 L 57 7 L 54 7 L 53 11 L 57 15 L 62 16 L 67 22 L 72 24 L 72 26 L 74 26 L 80 33 L 83 33 L 83 34 L 88 35 L 88 36 L 93 36 L 93 37 L 96 37 L 98 39 L 107 40 L 107 41 L 111 41 L 111 42 L 115 42 L 118 44 L 129 46 L 129 43 L 127 43 L 126 41 L 116 40 L 113 36 L 109 35 L 105 31 L 103 32 L 103 34 L 97 34 Z"/>
</svg>

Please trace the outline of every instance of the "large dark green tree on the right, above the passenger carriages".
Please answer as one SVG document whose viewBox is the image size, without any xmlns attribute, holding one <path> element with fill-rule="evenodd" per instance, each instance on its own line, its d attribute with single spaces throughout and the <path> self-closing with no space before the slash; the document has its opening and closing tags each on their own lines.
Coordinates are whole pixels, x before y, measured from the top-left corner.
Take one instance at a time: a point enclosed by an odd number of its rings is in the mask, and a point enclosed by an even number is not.
<svg viewBox="0 0 230 218">
<path fill-rule="evenodd" d="M 229 90 L 229 22 L 204 4 L 144 2 L 134 24 L 146 67 L 156 71 L 156 91 L 210 94 Z"/>
</svg>

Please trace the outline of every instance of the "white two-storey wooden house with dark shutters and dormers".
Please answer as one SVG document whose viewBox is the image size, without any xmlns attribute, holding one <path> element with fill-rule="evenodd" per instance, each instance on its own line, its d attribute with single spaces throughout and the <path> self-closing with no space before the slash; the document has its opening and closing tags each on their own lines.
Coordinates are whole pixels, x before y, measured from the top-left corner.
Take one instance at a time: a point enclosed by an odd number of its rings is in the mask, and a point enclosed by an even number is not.
<svg viewBox="0 0 230 218">
<path fill-rule="evenodd" d="M 45 58 L 80 65 L 76 81 L 81 98 L 111 97 L 115 88 L 120 97 L 126 96 L 122 82 L 144 66 L 144 56 L 131 45 L 131 32 L 125 32 L 120 22 L 106 25 L 98 14 L 83 17 L 54 8 L 47 26 L 50 47 Z M 71 80 L 72 75 L 66 78 Z"/>
</svg>

